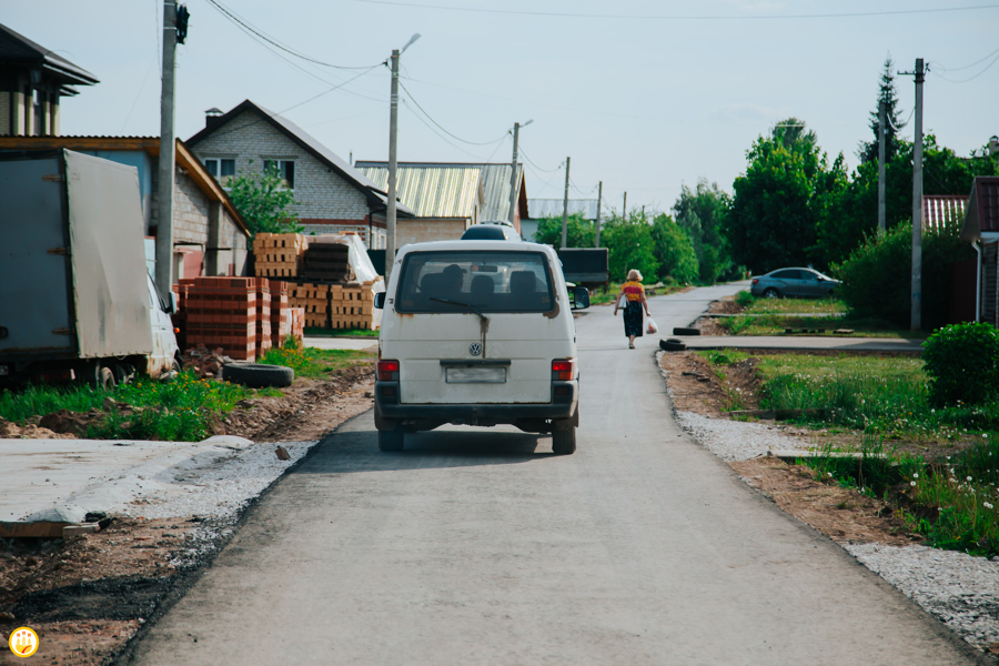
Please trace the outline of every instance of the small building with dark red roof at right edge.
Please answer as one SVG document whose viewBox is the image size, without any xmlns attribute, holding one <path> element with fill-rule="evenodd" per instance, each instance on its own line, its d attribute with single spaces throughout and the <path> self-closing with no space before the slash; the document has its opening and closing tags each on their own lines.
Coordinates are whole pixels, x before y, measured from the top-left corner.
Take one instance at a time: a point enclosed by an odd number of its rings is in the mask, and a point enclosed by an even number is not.
<svg viewBox="0 0 999 666">
<path fill-rule="evenodd" d="M 961 240 L 978 253 L 976 320 L 999 326 L 999 176 L 975 176 Z"/>
</svg>

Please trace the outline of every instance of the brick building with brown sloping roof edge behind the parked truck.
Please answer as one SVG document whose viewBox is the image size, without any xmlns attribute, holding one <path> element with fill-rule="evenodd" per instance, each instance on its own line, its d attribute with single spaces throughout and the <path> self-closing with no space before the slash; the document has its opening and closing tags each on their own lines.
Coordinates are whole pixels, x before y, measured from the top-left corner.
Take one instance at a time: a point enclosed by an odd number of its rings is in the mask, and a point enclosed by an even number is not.
<svg viewBox="0 0 999 666">
<path fill-rule="evenodd" d="M 159 137 L 0 137 L 0 152 L 69 149 L 135 167 L 142 199 L 145 258 L 155 272 L 159 226 Z M 250 232 L 232 201 L 208 169 L 176 142 L 176 184 L 173 199 L 173 274 L 243 275 Z"/>
</svg>

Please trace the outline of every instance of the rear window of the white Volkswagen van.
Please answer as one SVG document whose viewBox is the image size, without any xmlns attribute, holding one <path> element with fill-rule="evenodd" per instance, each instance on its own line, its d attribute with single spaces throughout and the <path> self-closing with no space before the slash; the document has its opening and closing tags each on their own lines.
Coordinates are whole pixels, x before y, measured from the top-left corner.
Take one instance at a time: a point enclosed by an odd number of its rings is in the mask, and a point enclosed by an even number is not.
<svg viewBox="0 0 999 666">
<path fill-rule="evenodd" d="M 446 251 L 406 255 L 397 312 L 551 312 L 547 258 L 541 252 Z"/>
</svg>

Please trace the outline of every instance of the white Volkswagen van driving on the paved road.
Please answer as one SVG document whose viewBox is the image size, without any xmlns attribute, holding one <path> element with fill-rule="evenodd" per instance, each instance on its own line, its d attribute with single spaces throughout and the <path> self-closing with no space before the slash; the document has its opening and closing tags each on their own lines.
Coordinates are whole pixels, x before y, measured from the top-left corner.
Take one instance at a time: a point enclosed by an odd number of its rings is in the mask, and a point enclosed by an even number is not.
<svg viewBox="0 0 999 666">
<path fill-rule="evenodd" d="M 579 367 L 555 251 L 519 241 L 440 241 L 396 255 L 382 307 L 375 427 L 382 451 L 447 423 L 512 424 L 576 450 Z"/>
</svg>

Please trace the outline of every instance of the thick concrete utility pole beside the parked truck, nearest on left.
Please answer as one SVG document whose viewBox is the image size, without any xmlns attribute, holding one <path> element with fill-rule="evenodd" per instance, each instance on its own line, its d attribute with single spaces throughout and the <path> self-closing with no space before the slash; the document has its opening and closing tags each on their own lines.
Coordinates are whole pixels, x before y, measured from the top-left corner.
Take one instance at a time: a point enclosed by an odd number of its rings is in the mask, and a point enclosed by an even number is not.
<svg viewBox="0 0 999 666">
<path fill-rule="evenodd" d="M 176 133 L 173 129 L 173 74 L 176 61 L 176 3 L 163 0 L 163 83 L 160 92 L 160 160 L 157 192 L 157 287 L 170 297 L 173 287 L 173 189 Z"/>
</svg>

